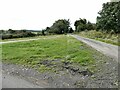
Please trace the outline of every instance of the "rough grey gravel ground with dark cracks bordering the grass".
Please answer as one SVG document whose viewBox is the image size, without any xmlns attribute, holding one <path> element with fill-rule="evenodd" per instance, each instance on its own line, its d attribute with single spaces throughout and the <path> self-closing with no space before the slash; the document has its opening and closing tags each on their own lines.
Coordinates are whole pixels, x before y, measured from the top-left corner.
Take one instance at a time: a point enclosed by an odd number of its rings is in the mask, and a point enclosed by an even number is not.
<svg viewBox="0 0 120 90">
<path fill-rule="evenodd" d="M 41 63 L 47 67 L 53 66 L 57 72 L 38 72 L 33 68 L 8 63 L 2 64 L 2 70 L 6 74 L 22 77 L 44 88 L 117 88 L 118 63 L 112 58 L 98 54 L 99 56 L 94 56 L 95 72 L 91 72 L 85 66 L 60 60 Z M 54 66 L 52 62 L 57 62 L 58 65 Z"/>
</svg>

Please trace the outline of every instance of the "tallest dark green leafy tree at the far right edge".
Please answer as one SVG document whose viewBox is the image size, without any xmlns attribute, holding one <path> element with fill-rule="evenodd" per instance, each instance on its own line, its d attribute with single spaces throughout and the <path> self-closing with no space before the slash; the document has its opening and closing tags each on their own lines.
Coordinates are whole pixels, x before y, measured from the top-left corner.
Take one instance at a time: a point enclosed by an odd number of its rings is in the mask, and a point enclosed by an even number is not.
<svg viewBox="0 0 120 90">
<path fill-rule="evenodd" d="M 103 4 L 102 10 L 98 13 L 97 29 L 103 31 L 120 32 L 120 2 L 107 2 Z"/>
</svg>

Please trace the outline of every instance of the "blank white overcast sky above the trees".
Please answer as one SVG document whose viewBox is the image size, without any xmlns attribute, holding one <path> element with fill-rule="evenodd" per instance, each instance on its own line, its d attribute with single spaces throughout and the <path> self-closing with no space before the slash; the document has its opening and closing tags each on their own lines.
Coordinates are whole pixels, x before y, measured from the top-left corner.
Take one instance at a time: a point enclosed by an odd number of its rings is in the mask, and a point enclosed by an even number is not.
<svg viewBox="0 0 120 90">
<path fill-rule="evenodd" d="M 0 30 L 41 30 L 58 19 L 96 22 L 102 4 L 110 0 L 0 0 Z"/>
</svg>

